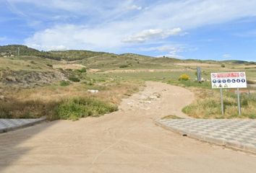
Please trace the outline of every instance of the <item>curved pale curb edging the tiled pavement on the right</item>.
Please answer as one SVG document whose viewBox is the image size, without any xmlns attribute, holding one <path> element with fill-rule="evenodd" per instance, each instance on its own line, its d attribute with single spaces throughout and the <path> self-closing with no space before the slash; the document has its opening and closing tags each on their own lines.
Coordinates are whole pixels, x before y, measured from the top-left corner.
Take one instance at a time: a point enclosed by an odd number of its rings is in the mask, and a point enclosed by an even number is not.
<svg viewBox="0 0 256 173">
<path fill-rule="evenodd" d="M 155 125 L 158 125 L 161 128 L 164 128 L 166 130 L 171 130 L 174 133 L 179 133 L 182 136 L 187 136 L 189 138 L 194 138 L 199 141 L 207 142 L 207 143 L 213 143 L 218 146 L 225 146 L 226 148 L 232 148 L 239 151 L 245 151 L 251 154 L 256 154 L 256 147 L 250 144 L 243 144 L 239 143 L 237 141 L 227 141 L 225 138 L 219 139 L 219 138 L 210 138 L 207 136 L 198 135 L 196 133 L 190 133 L 184 130 L 180 130 L 178 128 L 172 128 L 170 126 L 164 125 L 163 123 L 158 122 L 158 120 L 154 120 Z"/>
</svg>

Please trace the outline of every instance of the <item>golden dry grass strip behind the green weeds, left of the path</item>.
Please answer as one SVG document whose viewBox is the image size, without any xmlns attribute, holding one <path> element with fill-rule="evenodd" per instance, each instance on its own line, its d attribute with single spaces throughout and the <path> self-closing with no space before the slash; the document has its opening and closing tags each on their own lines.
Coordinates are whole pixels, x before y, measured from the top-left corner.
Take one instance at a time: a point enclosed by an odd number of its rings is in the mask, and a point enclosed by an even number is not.
<svg viewBox="0 0 256 173">
<path fill-rule="evenodd" d="M 9 92 L 9 96 L 16 97 L 18 100 L 38 100 L 43 102 L 59 101 L 66 98 L 74 97 L 89 97 L 96 96 L 105 99 L 108 102 L 118 104 L 124 95 L 129 95 L 137 92 L 141 84 L 129 82 L 106 82 L 93 85 L 83 83 L 72 83 L 69 86 L 43 86 L 35 89 L 20 89 L 16 93 Z M 88 89 L 98 89 L 100 92 L 91 94 Z"/>
</svg>

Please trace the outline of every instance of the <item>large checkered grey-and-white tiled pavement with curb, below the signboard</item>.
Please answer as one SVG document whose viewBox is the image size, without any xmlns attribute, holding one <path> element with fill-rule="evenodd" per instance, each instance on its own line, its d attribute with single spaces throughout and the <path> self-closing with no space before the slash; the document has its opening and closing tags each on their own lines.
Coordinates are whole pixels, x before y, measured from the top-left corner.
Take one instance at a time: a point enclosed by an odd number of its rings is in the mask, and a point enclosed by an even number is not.
<svg viewBox="0 0 256 173">
<path fill-rule="evenodd" d="M 183 136 L 256 154 L 256 120 L 163 119 L 157 123 Z"/>
</svg>

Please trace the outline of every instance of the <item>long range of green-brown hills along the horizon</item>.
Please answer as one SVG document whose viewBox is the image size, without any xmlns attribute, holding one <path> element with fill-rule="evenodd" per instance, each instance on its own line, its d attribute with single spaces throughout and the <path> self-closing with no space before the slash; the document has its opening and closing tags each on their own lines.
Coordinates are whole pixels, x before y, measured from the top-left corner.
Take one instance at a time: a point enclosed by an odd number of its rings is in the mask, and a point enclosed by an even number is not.
<svg viewBox="0 0 256 173">
<path fill-rule="evenodd" d="M 101 61 L 101 66 L 106 64 L 111 64 L 111 66 L 130 66 L 130 63 L 144 63 L 145 66 L 153 66 L 154 64 L 161 63 L 161 66 L 164 66 L 165 63 L 230 63 L 230 64 L 255 64 L 255 62 L 247 61 L 202 61 L 195 59 L 186 59 L 181 60 L 177 58 L 155 58 L 151 56 L 142 56 L 135 53 L 124 53 L 121 55 L 116 55 L 114 53 L 104 53 L 104 52 L 95 52 L 90 50 L 52 50 L 52 51 L 40 51 L 34 48 L 29 48 L 25 45 L 3 45 L 0 46 L 0 57 L 1 56 L 17 56 L 18 48 L 20 48 L 20 56 L 38 56 L 40 58 L 49 58 L 53 60 L 65 60 L 65 61 L 82 61 L 88 60 L 88 63 L 94 64 L 93 66 L 98 66 L 98 62 Z M 116 59 L 117 58 L 117 59 Z M 116 63 L 116 65 L 114 65 Z M 104 65 L 105 64 L 105 65 Z M 108 64 L 108 65 L 109 65 Z M 137 65 L 138 66 L 138 65 Z M 141 66 L 141 64 L 140 64 Z"/>
</svg>

